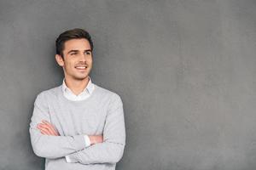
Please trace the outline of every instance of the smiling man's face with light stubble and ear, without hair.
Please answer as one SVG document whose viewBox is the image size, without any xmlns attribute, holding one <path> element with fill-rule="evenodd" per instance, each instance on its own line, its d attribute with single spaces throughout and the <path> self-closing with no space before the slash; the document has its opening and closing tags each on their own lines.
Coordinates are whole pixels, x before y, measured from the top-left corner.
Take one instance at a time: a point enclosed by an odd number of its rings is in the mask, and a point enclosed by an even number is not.
<svg viewBox="0 0 256 170">
<path fill-rule="evenodd" d="M 72 39 L 64 43 L 63 58 L 56 54 L 57 63 L 63 67 L 65 78 L 84 80 L 92 68 L 92 53 L 88 40 Z"/>
</svg>

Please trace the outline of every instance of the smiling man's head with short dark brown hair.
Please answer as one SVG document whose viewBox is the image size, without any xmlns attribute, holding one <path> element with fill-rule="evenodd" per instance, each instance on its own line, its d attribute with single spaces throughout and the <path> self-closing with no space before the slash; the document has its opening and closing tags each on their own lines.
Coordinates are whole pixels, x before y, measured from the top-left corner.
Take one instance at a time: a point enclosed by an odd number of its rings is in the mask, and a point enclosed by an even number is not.
<svg viewBox="0 0 256 170">
<path fill-rule="evenodd" d="M 65 78 L 84 80 L 92 68 L 93 42 L 87 31 L 68 30 L 56 39 L 55 59 L 63 67 Z"/>
</svg>

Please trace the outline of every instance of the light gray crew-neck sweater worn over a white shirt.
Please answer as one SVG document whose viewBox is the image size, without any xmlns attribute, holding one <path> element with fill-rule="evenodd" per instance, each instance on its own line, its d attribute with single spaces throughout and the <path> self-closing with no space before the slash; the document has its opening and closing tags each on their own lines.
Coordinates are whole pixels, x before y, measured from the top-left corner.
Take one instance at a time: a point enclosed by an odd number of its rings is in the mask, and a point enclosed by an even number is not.
<svg viewBox="0 0 256 170">
<path fill-rule="evenodd" d="M 61 136 L 40 133 L 37 124 L 42 120 L 51 122 Z M 61 86 L 51 88 L 38 94 L 29 132 L 35 154 L 46 158 L 46 170 L 113 170 L 125 148 L 122 100 L 97 85 L 90 98 L 81 101 L 66 99 Z M 85 147 L 84 134 L 102 134 L 103 143 Z"/>
</svg>

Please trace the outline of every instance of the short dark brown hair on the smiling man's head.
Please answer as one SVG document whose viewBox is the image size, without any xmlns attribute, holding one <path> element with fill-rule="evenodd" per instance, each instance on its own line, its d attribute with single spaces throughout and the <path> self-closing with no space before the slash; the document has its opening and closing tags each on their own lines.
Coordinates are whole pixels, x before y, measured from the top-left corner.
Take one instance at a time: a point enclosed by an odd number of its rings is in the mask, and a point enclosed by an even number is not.
<svg viewBox="0 0 256 170">
<path fill-rule="evenodd" d="M 91 37 L 88 31 L 85 31 L 80 28 L 75 28 L 73 30 L 64 31 L 57 37 L 55 41 L 56 46 L 56 54 L 61 55 L 63 58 L 63 49 L 64 43 L 71 39 L 86 39 L 90 43 L 90 49 L 93 50 L 93 42 L 91 41 Z"/>
</svg>

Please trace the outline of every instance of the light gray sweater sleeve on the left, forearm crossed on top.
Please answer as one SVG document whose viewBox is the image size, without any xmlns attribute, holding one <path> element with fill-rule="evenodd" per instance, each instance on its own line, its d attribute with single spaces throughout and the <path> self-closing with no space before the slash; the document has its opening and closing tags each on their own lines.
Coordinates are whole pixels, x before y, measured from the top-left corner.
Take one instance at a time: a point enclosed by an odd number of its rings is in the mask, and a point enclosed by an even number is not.
<svg viewBox="0 0 256 170">
<path fill-rule="evenodd" d="M 49 109 L 44 99 L 44 93 L 38 94 L 35 100 L 29 127 L 32 149 L 37 156 L 58 158 L 85 148 L 84 135 L 49 136 L 40 133 L 37 125 L 42 120 L 50 122 Z"/>
</svg>

